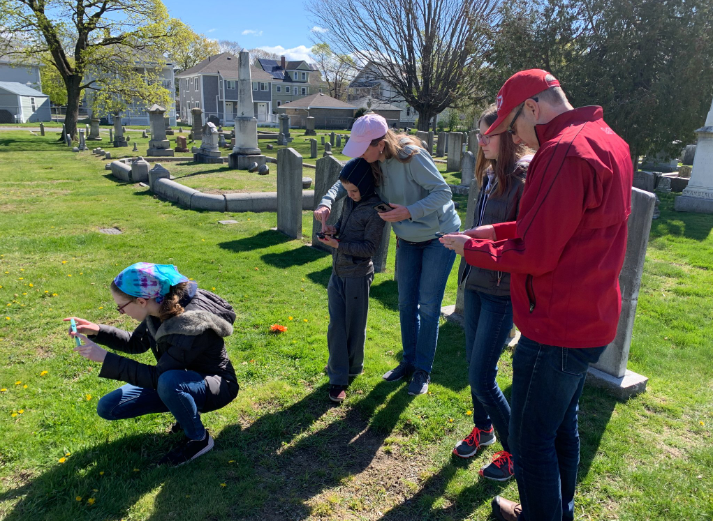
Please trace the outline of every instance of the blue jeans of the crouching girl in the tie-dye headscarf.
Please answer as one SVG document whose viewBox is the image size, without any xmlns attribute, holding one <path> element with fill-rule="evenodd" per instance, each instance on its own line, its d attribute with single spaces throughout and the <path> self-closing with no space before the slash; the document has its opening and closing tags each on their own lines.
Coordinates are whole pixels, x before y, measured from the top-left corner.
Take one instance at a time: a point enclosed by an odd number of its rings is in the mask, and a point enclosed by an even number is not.
<svg viewBox="0 0 713 521">
<path fill-rule="evenodd" d="M 124 420 L 144 414 L 170 412 L 183 427 L 185 436 L 202 440 L 205 428 L 200 410 L 207 386 L 197 372 L 171 370 L 158 377 L 156 389 L 126 384 L 102 396 L 96 412 L 105 420 Z"/>
</svg>

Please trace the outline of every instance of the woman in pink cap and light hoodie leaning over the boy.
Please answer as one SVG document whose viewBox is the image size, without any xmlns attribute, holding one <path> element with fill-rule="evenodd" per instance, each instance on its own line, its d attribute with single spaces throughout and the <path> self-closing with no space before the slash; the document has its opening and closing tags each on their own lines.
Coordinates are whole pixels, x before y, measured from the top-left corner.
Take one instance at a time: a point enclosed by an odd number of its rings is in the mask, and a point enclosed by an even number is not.
<svg viewBox="0 0 713 521">
<path fill-rule="evenodd" d="M 429 390 L 436 355 L 441 301 L 455 254 L 437 240 L 437 233 L 461 227 L 451 189 L 421 142 L 389 130 L 384 117 L 359 117 L 344 147 L 344 155 L 371 164 L 376 193 L 391 206 L 381 219 L 396 233 L 399 270 L 399 315 L 404 354 L 401 363 L 384 374 L 386 381 L 411 377 L 409 394 Z M 340 181 L 314 211 L 326 226 L 332 203 L 347 195 Z"/>
</svg>

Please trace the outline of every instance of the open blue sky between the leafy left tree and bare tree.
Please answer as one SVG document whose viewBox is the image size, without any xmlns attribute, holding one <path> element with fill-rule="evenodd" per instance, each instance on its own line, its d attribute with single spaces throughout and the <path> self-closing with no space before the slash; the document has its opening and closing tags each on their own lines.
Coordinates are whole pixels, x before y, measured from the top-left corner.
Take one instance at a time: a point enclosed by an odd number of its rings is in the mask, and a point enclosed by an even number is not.
<svg viewBox="0 0 713 521">
<path fill-rule="evenodd" d="M 197 33 L 241 46 L 265 48 L 288 60 L 307 59 L 314 23 L 303 0 L 163 0 L 171 16 Z M 319 28 L 314 28 L 319 31 Z M 312 61 L 312 60 L 310 60 Z"/>
</svg>

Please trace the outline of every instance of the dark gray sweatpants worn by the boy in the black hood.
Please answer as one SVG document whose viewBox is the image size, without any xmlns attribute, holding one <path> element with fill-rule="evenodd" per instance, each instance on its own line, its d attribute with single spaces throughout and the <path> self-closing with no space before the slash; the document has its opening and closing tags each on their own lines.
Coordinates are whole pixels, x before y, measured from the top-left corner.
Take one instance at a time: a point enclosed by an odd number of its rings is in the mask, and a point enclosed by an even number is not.
<svg viewBox="0 0 713 521">
<path fill-rule="evenodd" d="M 369 288 L 374 274 L 364 277 L 337 277 L 332 273 L 327 285 L 329 329 L 327 374 L 332 385 L 349 384 L 349 374 L 364 369 L 366 315 L 369 312 Z"/>
</svg>

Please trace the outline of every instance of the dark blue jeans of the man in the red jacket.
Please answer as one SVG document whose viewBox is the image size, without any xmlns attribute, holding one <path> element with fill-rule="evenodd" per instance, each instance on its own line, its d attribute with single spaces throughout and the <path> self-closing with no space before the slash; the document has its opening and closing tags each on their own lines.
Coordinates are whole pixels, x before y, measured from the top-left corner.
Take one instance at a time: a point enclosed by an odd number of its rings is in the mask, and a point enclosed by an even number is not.
<svg viewBox="0 0 713 521">
<path fill-rule="evenodd" d="M 515 347 L 509 441 L 520 521 L 574 519 L 579 398 L 589 365 L 605 348 L 555 347 L 524 336 Z"/>
</svg>

